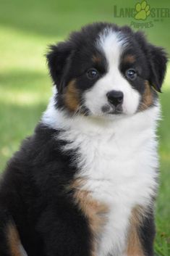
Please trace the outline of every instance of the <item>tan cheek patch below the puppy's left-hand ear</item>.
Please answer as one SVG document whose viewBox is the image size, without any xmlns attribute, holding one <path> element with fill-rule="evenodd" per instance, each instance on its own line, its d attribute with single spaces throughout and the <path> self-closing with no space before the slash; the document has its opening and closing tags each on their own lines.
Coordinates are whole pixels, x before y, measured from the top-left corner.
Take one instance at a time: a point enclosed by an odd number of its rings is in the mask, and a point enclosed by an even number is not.
<svg viewBox="0 0 170 256">
<path fill-rule="evenodd" d="M 64 93 L 64 103 L 71 111 L 76 111 L 80 105 L 79 94 L 75 86 L 75 79 L 71 80 Z"/>
</svg>

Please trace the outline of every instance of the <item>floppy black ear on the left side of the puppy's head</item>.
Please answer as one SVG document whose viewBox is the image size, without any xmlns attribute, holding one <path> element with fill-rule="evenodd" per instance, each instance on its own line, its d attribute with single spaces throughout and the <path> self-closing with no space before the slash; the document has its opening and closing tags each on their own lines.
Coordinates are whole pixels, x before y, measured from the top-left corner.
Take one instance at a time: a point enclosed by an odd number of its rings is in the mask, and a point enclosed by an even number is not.
<svg viewBox="0 0 170 256">
<path fill-rule="evenodd" d="M 54 80 L 54 84 L 59 93 L 61 93 L 64 88 L 64 74 L 67 70 L 71 53 L 71 44 L 69 42 L 61 42 L 49 46 L 49 51 L 46 54 L 51 78 Z"/>
</svg>

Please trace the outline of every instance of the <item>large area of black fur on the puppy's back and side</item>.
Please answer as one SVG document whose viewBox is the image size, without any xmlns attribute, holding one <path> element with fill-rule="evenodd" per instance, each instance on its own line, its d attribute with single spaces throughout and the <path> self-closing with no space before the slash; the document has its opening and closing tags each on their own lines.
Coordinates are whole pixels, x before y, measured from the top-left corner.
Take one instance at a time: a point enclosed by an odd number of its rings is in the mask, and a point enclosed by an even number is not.
<svg viewBox="0 0 170 256">
<path fill-rule="evenodd" d="M 29 256 L 88 256 L 88 223 L 67 192 L 76 152 L 61 152 L 64 141 L 56 139 L 58 133 L 38 125 L 10 160 L 0 188 L 0 223 L 14 220 Z M 9 256 L 5 235 L 0 233 L 1 256 Z"/>
</svg>

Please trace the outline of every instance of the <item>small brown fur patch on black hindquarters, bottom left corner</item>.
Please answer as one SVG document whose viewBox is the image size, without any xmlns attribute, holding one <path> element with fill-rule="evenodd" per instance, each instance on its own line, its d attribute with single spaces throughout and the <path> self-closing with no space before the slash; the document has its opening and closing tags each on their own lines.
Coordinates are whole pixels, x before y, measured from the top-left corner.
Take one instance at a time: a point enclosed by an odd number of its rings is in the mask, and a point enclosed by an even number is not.
<svg viewBox="0 0 170 256">
<path fill-rule="evenodd" d="M 22 252 L 20 251 L 20 237 L 17 228 L 12 223 L 9 223 L 7 226 L 7 241 L 9 244 L 10 255 L 22 256 Z"/>
</svg>

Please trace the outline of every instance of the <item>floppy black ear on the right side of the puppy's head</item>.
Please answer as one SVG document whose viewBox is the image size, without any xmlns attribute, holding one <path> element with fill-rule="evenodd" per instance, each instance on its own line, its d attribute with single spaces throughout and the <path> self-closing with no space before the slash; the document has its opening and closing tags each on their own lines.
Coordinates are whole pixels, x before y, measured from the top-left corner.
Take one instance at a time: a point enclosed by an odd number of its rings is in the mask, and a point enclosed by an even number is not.
<svg viewBox="0 0 170 256">
<path fill-rule="evenodd" d="M 148 47 L 148 61 L 150 64 L 149 82 L 156 91 L 161 92 L 161 86 L 166 74 L 167 55 L 161 47 L 156 47 L 151 44 L 149 44 Z"/>
</svg>

